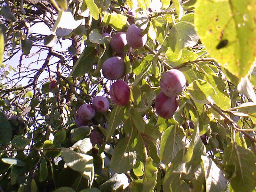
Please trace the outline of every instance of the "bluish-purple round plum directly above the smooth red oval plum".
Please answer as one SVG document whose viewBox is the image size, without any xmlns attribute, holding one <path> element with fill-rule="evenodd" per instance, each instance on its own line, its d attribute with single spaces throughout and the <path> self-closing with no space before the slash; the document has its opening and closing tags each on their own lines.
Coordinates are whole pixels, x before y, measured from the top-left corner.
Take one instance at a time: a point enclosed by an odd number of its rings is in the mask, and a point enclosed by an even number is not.
<svg viewBox="0 0 256 192">
<path fill-rule="evenodd" d="M 121 57 L 110 57 L 102 65 L 102 74 L 107 79 L 118 79 L 124 74 L 125 63 Z"/>
</svg>

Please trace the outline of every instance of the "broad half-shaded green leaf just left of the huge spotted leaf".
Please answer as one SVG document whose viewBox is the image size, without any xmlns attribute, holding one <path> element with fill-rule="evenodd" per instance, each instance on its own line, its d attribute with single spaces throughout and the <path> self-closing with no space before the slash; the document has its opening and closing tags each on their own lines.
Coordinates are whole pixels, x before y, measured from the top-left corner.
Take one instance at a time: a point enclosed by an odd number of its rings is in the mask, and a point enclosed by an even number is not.
<svg viewBox="0 0 256 192">
<path fill-rule="evenodd" d="M 173 52 L 179 52 L 184 47 L 193 47 L 198 41 L 194 25 L 184 21 L 174 24 L 168 41 Z"/>
</svg>

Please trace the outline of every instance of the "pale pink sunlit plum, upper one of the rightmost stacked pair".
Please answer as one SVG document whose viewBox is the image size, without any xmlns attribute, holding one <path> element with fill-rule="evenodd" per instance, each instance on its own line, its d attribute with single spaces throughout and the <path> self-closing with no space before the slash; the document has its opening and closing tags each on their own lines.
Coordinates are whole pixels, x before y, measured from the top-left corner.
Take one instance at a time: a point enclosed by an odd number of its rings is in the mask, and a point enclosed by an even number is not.
<svg viewBox="0 0 256 192">
<path fill-rule="evenodd" d="M 161 91 L 169 96 L 176 97 L 186 87 L 186 77 L 177 69 L 166 71 L 160 80 Z"/>
</svg>

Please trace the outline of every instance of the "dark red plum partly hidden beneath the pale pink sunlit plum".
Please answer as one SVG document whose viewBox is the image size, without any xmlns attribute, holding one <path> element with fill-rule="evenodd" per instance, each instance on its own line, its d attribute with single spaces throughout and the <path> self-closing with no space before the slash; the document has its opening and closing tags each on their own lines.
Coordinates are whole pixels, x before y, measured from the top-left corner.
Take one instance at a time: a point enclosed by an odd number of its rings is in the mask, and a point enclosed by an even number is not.
<svg viewBox="0 0 256 192">
<path fill-rule="evenodd" d="M 159 116 L 164 119 L 171 119 L 178 108 L 178 103 L 175 97 L 167 97 L 163 92 L 160 92 L 156 97 L 155 107 Z"/>
</svg>

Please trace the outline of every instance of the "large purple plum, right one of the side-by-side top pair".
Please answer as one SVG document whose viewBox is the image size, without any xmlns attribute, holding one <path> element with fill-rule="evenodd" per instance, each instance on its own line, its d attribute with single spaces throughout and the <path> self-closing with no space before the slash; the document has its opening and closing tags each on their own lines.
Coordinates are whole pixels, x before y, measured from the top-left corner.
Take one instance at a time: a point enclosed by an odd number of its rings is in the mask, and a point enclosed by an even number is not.
<svg viewBox="0 0 256 192">
<path fill-rule="evenodd" d="M 141 33 L 143 30 L 132 24 L 126 31 L 126 40 L 130 47 L 134 49 L 142 48 L 147 42 L 147 34 Z"/>
</svg>

